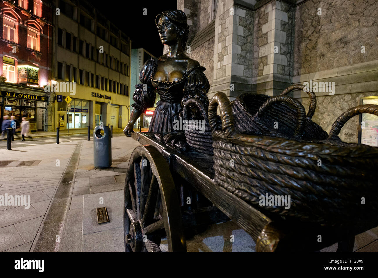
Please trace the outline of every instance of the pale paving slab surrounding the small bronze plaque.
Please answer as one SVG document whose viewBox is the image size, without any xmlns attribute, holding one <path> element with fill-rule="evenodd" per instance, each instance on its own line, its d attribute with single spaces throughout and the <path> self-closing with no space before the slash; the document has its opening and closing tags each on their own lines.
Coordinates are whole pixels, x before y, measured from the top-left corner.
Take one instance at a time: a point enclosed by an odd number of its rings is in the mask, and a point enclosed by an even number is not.
<svg viewBox="0 0 378 278">
<path fill-rule="evenodd" d="M 104 198 L 104 204 L 99 198 Z M 83 235 L 123 227 L 123 190 L 84 195 Z M 96 208 L 106 207 L 110 222 L 97 223 Z"/>
</svg>

